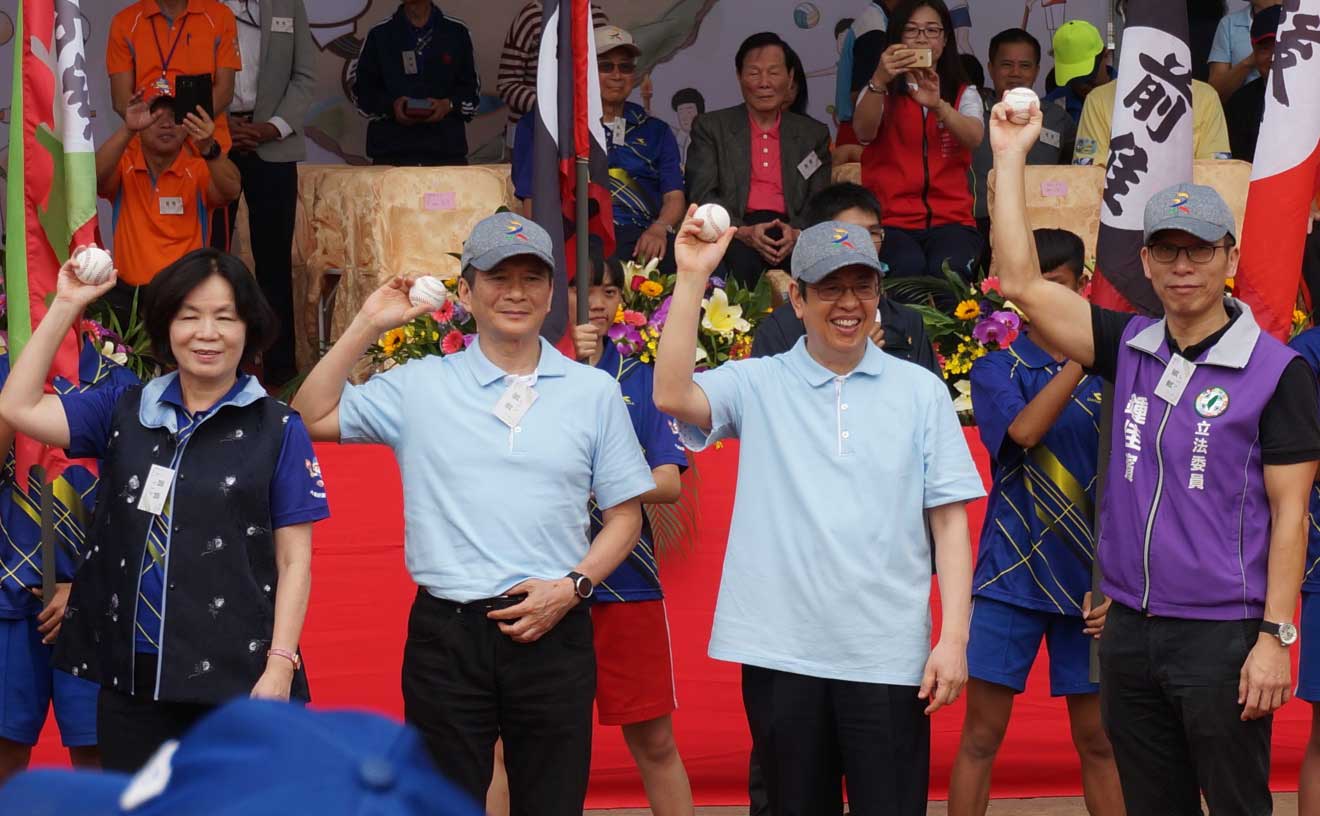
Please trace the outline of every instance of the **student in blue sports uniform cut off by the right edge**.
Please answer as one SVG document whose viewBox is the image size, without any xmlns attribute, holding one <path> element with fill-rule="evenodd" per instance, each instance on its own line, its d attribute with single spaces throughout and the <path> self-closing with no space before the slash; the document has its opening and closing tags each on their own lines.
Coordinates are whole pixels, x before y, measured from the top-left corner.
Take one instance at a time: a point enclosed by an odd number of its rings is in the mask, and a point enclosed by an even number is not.
<svg viewBox="0 0 1320 816">
<path fill-rule="evenodd" d="M 1291 343 L 1320 372 L 1320 327 L 1308 329 Z M 1298 808 L 1303 816 L 1320 815 L 1320 483 L 1311 486 L 1307 519 L 1307 566 L 1302 578 L 1302 656 L 1296 696 L 1311 704 L 1311 739 L 1302 759 Z"/>
</svg>

